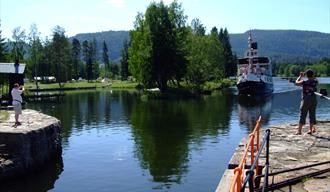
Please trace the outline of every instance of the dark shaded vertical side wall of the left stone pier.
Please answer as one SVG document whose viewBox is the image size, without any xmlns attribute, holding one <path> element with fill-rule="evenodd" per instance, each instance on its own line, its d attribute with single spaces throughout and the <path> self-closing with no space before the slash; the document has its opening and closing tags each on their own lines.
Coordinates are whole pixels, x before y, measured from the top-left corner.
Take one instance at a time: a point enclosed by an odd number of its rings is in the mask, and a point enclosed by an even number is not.
<svg viewBox="0 0 330 192">
<path fill-rule="evenodd" d="M 0 180 L 40 169 L 61 155 L 60 130 L 57 120 L 35 130 L 0 132 Z"/>
</svg>

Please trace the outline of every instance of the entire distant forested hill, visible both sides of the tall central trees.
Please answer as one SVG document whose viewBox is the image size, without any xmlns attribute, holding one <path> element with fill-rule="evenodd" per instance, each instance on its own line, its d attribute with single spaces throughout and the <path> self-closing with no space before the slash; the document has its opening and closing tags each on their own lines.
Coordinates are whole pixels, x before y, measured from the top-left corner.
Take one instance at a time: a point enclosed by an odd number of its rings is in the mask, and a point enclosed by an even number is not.
<svg viewBox="0 0 330 192">
<path fill-rule="evenodd" d="M 330 55 L 330 34 L 299 30 L 252 30 L 252 36 L 258 42 L 259 55 L 269 56 L 277 62 L 315 61 Z M 120 59 L 123 41 L 129 38 L 128 31 L 104 31 L 83 33 L 74 36 L 81 44 L 84 40 L 97 42 L 98 58 L 102 59 L 102 43 L 105 40 L 110 59 Z M 73 38 L 73 37 L 72 37 Z M 247 48 L 248 32 L 230 34 L 233 51 L 243 56 Z"/>
</svg>

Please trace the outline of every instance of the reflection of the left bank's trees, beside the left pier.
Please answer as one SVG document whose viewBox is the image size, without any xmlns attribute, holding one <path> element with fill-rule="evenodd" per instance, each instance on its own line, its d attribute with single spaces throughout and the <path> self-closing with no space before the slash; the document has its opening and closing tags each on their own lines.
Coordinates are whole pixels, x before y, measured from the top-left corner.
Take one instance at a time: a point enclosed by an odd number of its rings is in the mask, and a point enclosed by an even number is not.
<svg viewBox="0 0 330 192">
<path fill-rule="evenodd" d="M 61 102 L 43 101 L 28 107 L 41 110 L 61 121 L 62 143 L 65 145 L 72 133 L 72 128 L 83 130 L 100 121 L 110 121 L 111 98 L 109 91 L 82 91 L 67 94 Z M 118 102 L 118 101 L 117 101 Z M 85 126 L 88 125 L 88 126 Z"/>
</svg>

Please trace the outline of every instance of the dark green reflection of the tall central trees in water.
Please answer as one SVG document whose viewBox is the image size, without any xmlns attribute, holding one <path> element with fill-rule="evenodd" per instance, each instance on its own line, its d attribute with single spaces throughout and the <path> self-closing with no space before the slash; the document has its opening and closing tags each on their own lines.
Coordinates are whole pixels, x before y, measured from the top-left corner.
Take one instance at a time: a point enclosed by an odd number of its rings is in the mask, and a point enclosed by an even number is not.
<svg viewBox="0 0 330 192">
<path fill-rule="evenodd" d="M 189 144 L 202 144 L 205 136 L 228 131 L 232 99 L 227 94 L 199 100 L 151 100 L 129 102 L 130 117 L 136 143 L 136 155 L 153 180 L 180 183 L 188 171 Z"/>
</svg>

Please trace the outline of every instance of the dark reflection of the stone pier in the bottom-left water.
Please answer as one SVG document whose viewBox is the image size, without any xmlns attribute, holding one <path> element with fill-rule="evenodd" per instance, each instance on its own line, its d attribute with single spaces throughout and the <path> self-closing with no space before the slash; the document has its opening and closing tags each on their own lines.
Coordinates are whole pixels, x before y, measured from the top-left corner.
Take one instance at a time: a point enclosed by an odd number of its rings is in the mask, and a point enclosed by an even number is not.
<svg viewBox="0 0 330 192">
<path fill-rule="evenodd" d="M 49 191 L 54 188 L 56 180 L 63 171 L 62 156 L 59 155 L 41 168 L 40 171 L 23 176 L 22 178 L 1 182 L 0 191 L 36 192 Z"/>
</svg>

